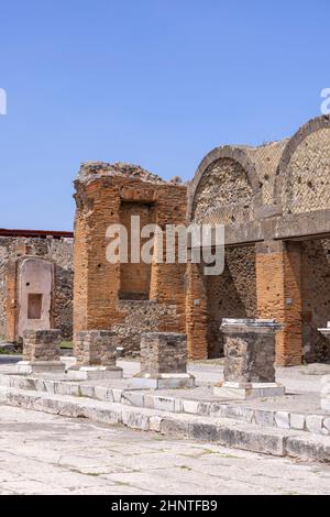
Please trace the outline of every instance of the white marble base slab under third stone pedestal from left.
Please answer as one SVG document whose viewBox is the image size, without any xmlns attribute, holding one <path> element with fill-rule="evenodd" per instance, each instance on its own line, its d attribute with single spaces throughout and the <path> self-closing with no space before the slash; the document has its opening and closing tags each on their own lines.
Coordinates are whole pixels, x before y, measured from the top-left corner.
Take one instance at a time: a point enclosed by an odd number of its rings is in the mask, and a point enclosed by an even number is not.
<svg viewBox="0 0 330 517">
<path fill-rule="evenodd" d="M 193 388 L 195 386 L 195 377 L 188 373 L 138 373 L 132 377 L 131 383 L 141 389 Z"/>
</svg>

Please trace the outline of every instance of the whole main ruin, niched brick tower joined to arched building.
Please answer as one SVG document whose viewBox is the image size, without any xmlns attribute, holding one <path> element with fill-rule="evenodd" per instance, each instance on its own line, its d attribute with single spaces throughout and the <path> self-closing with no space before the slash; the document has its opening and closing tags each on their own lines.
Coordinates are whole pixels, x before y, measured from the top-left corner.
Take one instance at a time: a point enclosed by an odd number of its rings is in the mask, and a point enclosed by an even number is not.
<svg viewBox="0 0 330 517">
<path fill-rule="evenodd" d="M 260 147 L 211 151 L 188 187 L 128 164 L 84 164 L 76 179 L 75 332 L 116 331 L 125 355 L 143 332 L 187 333 L 191 359 L 223 354 L 223 318 L 275 319 L 276 363 L 330 358 L 330 118 Z M 224 224 L 226 270 L 106 258 L 107 228 L 131 216 Z M 156 254 L 156 248 L 154 253 Z"/>
</svg>

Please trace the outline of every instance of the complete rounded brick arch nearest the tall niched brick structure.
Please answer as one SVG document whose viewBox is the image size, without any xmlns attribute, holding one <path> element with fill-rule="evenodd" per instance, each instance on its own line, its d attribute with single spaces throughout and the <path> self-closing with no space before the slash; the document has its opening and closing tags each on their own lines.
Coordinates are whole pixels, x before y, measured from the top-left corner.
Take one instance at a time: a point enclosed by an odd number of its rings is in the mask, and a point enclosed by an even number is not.
<svg viewBox="0 0 330 517">
<path fill-rule="evenodd" d="M 196 195 L 198 193 L 198 187 L 201 179 L 204 178 L 206 172 L 211 164 L 221 160 L 228 158 L 233 162 L 237 162 L 244 169 L 249 185 L 252 189 L 252 199 L 253 199 L 253 210 L 260 208 L 262 205 L 262 190 L 260 185 L 260 179 L 256 174 L 256 168 L 251 158 L 245 152 L 245 147 L 235 147 L 226 145 L 222 147 L 216 147 L 210 153 L 208 153 L 201 163 L 198 166 L 198 169 L 195 173 L 195 176 L 189 186 L 189 199 L 188 199 L 188 221 L 191 221 L 194 218 L 194 202 Z"/>
</svg>

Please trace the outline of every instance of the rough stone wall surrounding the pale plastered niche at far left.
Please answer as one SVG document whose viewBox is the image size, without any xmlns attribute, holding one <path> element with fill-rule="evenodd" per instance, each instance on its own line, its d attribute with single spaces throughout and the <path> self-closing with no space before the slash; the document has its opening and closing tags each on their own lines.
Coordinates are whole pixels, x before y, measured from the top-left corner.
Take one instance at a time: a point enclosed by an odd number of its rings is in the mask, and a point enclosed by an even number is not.
<svg viewBox="0 0 330 517">
<path fill-rule="evenodd" d="M 64 339 L 73 336 L 73 242 L 70 239 L 0 238 L 0 336 L 6 338 L 8 315 L 8 265 L 23 255 L 36 255 L 55 263 L 52 320 Z M 14 272 L 12 271 L 12 275 Z M 14 283 L 14 278 L 12 278 Z"/>
</svg>

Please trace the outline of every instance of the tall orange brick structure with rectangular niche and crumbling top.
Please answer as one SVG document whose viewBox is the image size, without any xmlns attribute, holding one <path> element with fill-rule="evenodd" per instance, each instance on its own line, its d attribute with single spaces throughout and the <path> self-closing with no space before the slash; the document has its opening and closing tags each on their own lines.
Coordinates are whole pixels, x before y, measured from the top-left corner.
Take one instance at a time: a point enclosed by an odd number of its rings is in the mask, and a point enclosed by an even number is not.
<svg viewBox="0 0 330 517">
<path fill-rule="evenodd" d="M 82 165 L 75 185 L 75 332 L 120 326 L 122 343 L 129 344 L 124 352 L 132 353 L 132 348 L 136 352 L 140 331 L 134 329 L 131 343 L 128 338 L 136 306 L 121 301 L 141 298 L 163 310 L 161 321 L 148 319 L 150 312 L 156 312 L 150 305 L 141 321 L 143 329 L 185 331 L 185 264 L 111 264 L 106 256 L 110 243 L 106 233 L 110 224 L 128 226 L 134 215 L 163 230 L 166 224 L 185 223 L 186 187 L 163 182 L 139 166 L 105 163 Z"/>
</svg>

